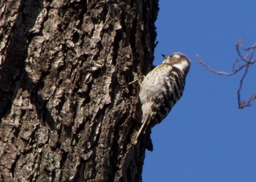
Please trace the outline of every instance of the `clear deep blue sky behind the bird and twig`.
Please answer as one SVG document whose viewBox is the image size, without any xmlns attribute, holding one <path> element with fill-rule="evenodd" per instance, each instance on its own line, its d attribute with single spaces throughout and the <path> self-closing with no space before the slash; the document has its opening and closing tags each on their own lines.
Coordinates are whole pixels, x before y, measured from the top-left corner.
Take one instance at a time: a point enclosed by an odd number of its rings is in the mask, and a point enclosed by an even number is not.
<svg viewBox="0 0 256 182">
<path fill-rule="evenodd" d="M 154 127 L 154 151 L 146 151 L 143 181 L 255 182 L 256 102 L 238 109 L 241 74 L 218 76 L 203 68 L 230 72 L 238 58 L 236 43 L 256 43 L 256 1 L 159 0 L 154 65 L 161 54 L 183 52 L 192 60 L 181 100 Z M 242 98 L 256 92 L 251 68 Z"/>
</svg>

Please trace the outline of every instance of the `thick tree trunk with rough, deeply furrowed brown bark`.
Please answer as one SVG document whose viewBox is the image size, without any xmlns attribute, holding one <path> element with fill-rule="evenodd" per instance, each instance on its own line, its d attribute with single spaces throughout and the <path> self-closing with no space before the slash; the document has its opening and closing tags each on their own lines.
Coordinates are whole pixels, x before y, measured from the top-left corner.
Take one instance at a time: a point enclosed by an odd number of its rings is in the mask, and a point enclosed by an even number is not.
<svg viewBox="0 0 256 182">
<path fill-rule="evenodd" d="M 0 181 L 141 181 L 135 75 L 157 0 L 0 1 Z"/>
</svg>

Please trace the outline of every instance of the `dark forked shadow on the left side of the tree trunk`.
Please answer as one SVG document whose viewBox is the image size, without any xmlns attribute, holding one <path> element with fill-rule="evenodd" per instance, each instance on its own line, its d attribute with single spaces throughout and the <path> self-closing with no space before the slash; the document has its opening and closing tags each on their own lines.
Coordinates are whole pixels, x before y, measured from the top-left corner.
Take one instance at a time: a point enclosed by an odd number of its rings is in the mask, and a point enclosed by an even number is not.
<svg viewBox="0 0 256 182">
<path fill-rule="evenodd" d="M 40 119 L 45 121 L 51 130 L 56 130 L 53 116 L 46 108 L 46 101 L 38 92 L 43 83 L 33 82 L 25 69 L 29 43 L 39 34 L 30 30 L 34 27 L 43 7 L 42 0 L 20 2 L 19 15 L 12 27 L 12 35 L 7 45 L 7 55 L 0 68 L 0 119 L 10 114 L 13 100 L 21 88 L 31 93 L 31 103 L 36 106 Z"/>
</svg>

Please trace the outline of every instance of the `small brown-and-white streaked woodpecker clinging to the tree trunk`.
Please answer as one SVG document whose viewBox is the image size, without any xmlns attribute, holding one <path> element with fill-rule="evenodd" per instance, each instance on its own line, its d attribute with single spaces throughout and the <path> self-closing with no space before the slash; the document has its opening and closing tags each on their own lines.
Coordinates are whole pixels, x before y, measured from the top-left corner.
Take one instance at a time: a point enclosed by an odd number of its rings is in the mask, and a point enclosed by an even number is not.
<svg viewBox="0 0 256 182">
<path fill-rule="evenodd" d="M 139 98 L 142 124 L 135 138 L 145 135 L 154 125 L 162 122 L 181 98 L 191 61 L 180 52 L 162 55 L 162 64 L 150 71 L 140 84 Z"/>
</svg>

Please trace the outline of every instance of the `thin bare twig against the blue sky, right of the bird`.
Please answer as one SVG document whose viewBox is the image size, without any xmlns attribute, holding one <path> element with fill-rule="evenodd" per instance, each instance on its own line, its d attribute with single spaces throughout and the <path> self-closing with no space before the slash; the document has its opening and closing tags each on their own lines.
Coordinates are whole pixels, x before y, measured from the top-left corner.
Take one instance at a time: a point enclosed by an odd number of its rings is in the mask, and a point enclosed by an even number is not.
<svg viewBox="0 0 256 182">
<path fill-rule="evenodd" d="M 238 43 L 236 44 L 236 52 L 238 52 L 238 59 L 234 61 L 231 73 L 211 69 L 209 66 L 206 65 L 206 63 L 203 62 L 203 60 L 200 59 L 199 55 L 197 55 L 198 62 L 206 69 L 208 69 L 208 71 L 211 71 L 214 74 L 232 76 L 234 74 L 237 74 L 239 71 L 244 71 L 244 74 L 240 79 L 240 84 L 237 90 L 238 108 L 245 108 L 251 106 L 252 101 L 256 100 L 256 95 L 254 93 L 250 95 L 247 101 L 241 100 L 241 89 L 244 83 L 244 79 L 246 77 L 246 74 L 248 73 L 249 67 L 256 62 L 255 50 L 256 44 L 254 44 L 252 47 L 245 48 L 241 46 L 241 39 L 239 39 Z M 246 52 L 246 55 L 243 56 L 241 51 Z M 238 63 L 241 63 L 241 66 L 239 66 Z"/>
</svg>

